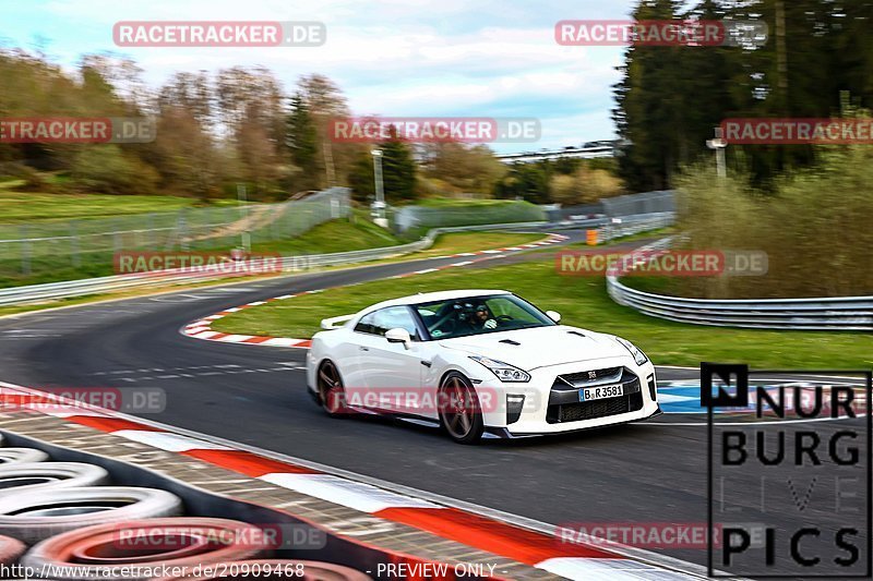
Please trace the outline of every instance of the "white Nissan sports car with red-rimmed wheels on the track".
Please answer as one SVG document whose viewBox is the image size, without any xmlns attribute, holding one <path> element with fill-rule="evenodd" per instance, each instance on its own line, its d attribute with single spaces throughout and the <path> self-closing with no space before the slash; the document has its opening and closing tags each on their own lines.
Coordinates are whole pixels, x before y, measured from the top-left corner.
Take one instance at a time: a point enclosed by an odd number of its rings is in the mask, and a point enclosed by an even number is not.
<svg viewBox="0 0 873 581">
<path fill-rule="evenodd" d="M 655 367 L 641 350 L 560 318 L 500 290 L 384 301 L 322 322 L 307 386 L 331 415 L 439 423 L 462 444 L 660 414 Z"/>
</svg>

